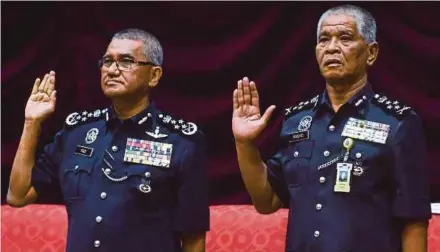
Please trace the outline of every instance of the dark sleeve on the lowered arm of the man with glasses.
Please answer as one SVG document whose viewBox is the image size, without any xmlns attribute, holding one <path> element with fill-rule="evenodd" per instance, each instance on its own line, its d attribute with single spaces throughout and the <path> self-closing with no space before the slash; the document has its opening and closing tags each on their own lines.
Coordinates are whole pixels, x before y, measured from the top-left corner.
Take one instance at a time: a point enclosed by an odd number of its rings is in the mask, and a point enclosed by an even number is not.
<svg viewBox="0 0 440 252">
<path fill-rule="evenodd" d="M 199 133 L 197 133 L 199 134 Z M 209 230 L 208 166 L 202 136 L 184 150 L 178 175 L 175 230 L 198 233 Z"/>
</svg>

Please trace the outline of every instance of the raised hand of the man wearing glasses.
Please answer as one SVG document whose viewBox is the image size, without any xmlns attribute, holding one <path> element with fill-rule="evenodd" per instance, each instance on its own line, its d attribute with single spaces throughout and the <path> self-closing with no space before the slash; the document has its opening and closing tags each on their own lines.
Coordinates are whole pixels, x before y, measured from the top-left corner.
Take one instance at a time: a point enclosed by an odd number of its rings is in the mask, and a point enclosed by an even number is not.
<svg viewBox="0 0 440 252">
<path fill-rule="evenodd" d="M 55 72 L 44 75 L 42 81 L 35 80 L 31 96 L 27 101 L 24 116 L 26 120 L 43 121 L 55 111 Z"/>
</svg>

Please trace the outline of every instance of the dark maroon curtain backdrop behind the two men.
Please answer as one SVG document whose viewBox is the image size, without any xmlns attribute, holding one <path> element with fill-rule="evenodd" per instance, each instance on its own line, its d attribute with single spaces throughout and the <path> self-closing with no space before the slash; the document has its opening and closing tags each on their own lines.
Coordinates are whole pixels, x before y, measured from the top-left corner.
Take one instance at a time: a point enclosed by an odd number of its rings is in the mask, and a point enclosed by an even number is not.
<svg viewBox="0 0 440 252">
<path fill-rule="evenodd" d="M 277 110 L 261 141 L 275 147 L 283 108 L 321 93 L 314 55 L 316 25 L 328 8 L 347 2 L 2 2 L 2 200 L 20 139 L 24 106 L 37 77 L 57 73 L 57 109 L 43 144 L 65 117 L 109 105 L 97 60 L 115 32 L 136 27 L 159 38 L 164 76 L 157 106 L 194 121 L 209 144 L 211 204 L 249 203 L 231 132 L 232 91 L 239 78 L 257 82 L 261 106 Z M 423 119 L 432 200 L 440 199 L 439 2 L 355 2 L 376 18 L 380 44 L 369 80 L 412 106 Z"/>
</svg>

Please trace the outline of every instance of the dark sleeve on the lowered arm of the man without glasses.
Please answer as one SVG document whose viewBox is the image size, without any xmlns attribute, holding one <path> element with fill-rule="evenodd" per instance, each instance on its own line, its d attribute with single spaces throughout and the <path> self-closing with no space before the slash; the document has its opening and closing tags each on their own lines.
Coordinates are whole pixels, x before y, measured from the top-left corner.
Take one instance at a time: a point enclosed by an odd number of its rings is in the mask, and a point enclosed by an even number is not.
<svg viewBox="0 0 440 252">
<path fill-rule="evenodd" d="M 398 218 L 429 219 L 431 205 L 425 135 L 420 118 L 411 112 L 399 122 L 394 141 L 393 175 L 397 185 L 393 214 Z"/>
</svg>

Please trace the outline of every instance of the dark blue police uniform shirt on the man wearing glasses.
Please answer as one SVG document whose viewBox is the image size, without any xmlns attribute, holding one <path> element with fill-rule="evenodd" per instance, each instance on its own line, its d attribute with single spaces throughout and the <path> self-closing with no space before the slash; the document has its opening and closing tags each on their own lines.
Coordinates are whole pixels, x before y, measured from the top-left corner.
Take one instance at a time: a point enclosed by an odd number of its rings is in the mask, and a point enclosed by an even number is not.
<svg viewBox="0 0 440 252">
<path fill-rule="evenodd" d="M 61 188 L 67 251 L 181 251 L 209 229 L 205 143 L 194 123 L 156 110 L 120 120 L 75 112 L 32 172 L 38 194 Z"/>
</svg>

